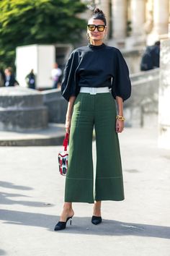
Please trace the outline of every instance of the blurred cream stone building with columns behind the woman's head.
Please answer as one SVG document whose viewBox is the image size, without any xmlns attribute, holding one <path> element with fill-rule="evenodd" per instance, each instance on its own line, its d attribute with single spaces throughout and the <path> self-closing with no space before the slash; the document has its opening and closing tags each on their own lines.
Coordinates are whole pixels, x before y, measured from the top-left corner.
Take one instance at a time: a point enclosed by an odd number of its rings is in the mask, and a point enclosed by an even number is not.
<svg viewBox="0 0 170 256">
<path fill-rule="evenodd" d="M 156 40 L 168 37 L 169 0 L 94 0 L 88 2 L 89 10 L 99 7 L 106 15 L 109 44 L 133 48 L 146 44 L 152 45 Z M 87 14 L 81 15 L 89 17 Z"/>
</svg>

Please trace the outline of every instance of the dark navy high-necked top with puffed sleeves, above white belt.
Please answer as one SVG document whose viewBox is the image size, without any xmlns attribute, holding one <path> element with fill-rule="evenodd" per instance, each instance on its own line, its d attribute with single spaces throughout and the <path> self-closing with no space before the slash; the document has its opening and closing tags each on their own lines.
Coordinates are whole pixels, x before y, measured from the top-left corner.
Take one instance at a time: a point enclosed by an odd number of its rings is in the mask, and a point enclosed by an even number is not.
<svg viewBox="0 0 170 256">
<path fill-rule="evenodd" d="M 131 83 L 128 66 L 120 51 L 104 43 L 72 51 L 63 72 L 61 94 L 69 101 L 71 95 L 79 94 L 82 86 L 109 87 L 114 98 L 120 96 L 123 101 L 127 100 Z"/>
</svg>

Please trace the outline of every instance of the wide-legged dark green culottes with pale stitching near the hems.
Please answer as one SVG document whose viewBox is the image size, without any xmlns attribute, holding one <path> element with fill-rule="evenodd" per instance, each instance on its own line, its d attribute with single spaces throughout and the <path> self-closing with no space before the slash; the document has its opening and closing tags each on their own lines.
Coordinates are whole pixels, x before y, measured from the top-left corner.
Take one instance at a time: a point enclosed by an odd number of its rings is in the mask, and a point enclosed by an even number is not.
<svg viewBox="0 0 170 256">
<path fill-rule="evenodd" d="M 65 202 L 124 200 L 120 146 L 115 132 L 116 107 L 111 93 L 79 93 L 73 105 Z M 92 135 L 97 169 L 94 189 Z"/>
</svg>

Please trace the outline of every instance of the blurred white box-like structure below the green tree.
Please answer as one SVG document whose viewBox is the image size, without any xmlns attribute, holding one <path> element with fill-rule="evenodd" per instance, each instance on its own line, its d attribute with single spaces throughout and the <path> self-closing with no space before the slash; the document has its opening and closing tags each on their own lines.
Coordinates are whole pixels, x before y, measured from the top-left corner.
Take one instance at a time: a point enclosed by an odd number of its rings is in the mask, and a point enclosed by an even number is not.
<svg viewBox="0 0 170 256">
<path fill-rule="evenodd" d="M 25 77 L 34 69 L 37 88 L 52 88 L 50 72 L 55 63 L 55 46 L 30 45 L 16 49 L 17 81 L 27 86 Z"/>
</svg>

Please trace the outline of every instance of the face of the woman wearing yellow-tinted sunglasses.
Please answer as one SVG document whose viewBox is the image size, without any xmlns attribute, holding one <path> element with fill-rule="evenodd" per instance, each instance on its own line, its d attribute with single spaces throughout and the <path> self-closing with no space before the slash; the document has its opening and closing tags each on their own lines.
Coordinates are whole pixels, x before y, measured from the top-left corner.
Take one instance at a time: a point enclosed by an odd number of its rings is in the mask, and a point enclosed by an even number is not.
<svg viewBox="0 0 170 256">
<path fill-rule="evenodd" d="M 88 25 L 104 25 L 104 22 L 102 20 L 90 19 L 88 22 Z M 105 27 L 102 32 L 98 31 L 97 27 L 95 28 L 94 31 L 90 31 L 89 27 L 87 27 L 87 33 L 89 34 L 90 40 L 103 40 L 106 32 L 107 32 L 107 27 Z"/>
</svg>

